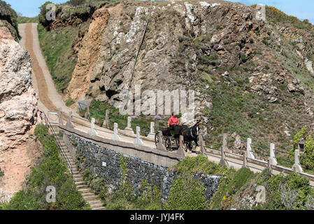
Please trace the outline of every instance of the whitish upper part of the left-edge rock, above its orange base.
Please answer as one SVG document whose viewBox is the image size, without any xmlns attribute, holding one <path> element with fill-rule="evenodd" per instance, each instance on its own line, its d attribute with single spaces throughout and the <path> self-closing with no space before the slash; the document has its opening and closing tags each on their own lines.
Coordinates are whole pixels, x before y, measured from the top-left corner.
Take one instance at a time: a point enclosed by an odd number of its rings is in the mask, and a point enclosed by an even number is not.
<svg viewBox="0 0 314 224">
<path fill-rule="evenodd" d="M 31 85 L 31 59 L 12 39 L 0 40 L 0 143 L 15 148 L 36 123 L 37 97 Z"/>
</svg>

